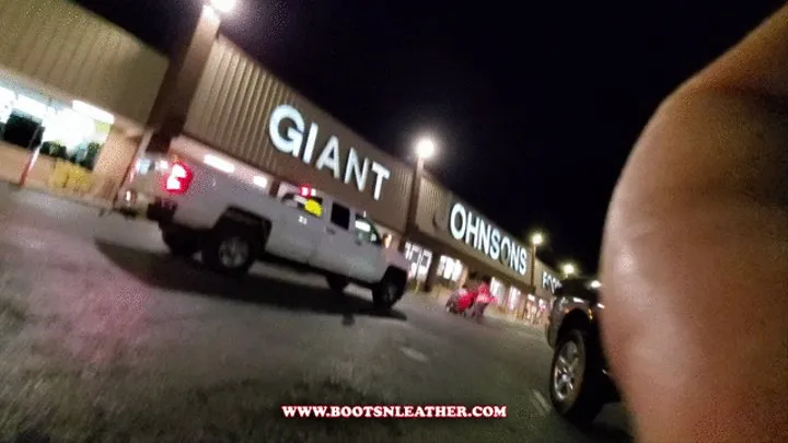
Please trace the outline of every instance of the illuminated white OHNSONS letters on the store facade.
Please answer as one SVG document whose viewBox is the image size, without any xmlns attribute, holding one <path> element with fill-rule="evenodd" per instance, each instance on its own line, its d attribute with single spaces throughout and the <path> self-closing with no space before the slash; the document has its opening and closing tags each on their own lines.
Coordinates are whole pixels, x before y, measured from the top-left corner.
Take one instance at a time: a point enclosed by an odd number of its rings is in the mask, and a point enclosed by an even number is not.
<svg viewBox="0 0 788 443">
<path fill-rule="evenodd" d="M 473 246 L 515 272 L 522 276 L 528 272 L 528 249 L 462 203 L 455 202 L 451 208 L 449 231 L 455 240 Z"/>
</svg>

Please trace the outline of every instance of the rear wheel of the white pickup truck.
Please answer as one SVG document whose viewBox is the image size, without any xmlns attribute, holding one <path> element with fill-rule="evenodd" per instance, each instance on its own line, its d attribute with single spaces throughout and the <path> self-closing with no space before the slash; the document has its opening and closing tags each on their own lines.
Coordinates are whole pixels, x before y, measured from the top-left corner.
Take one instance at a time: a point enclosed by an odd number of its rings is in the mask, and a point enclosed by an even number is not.
<svg viewBox="0 0 788 443">
<path fill-rule="evenodd" d="M 209 268 L 225 275 L 241 276 L 248 271 L 259 254 L 259 240 L 245 226 L 228 226 L 208 234 L 202 246 L 202 260 Z"/>
</svg>

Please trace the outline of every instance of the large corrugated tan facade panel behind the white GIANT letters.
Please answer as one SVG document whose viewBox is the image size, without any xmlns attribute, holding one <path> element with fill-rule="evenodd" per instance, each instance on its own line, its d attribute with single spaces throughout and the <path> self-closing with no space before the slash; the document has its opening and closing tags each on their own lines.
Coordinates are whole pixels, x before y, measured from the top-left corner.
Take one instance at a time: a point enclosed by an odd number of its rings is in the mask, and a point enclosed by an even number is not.
<svg viewBox="0 0 788 443">
<path fill-rule="evenodd" d="M 354 183 L 347 185 L 329 172 L 317 172 L 300 159 L 277 150 L 269 139 L 268 119 L 274 108 L 281 104 L 296 107 L 303 115 L 308 129 L 311 123 L 318 125 L 313 164 L 328 138 L 336 136 L 343 172 L 349 148 L 389 168 L 391 177 L 382 186 L 381 198 L 375 200 L 372 196 L 372 174 L 366 189 L 359 191 Z M 219 37 L 213 45 L 185 130 L 188 136 L 282 179 L 309 184 L 364 209 L 389 228 L 401 232 L 405 228 L 413 170 L 354 133 L 224 37 Z"/>
</svg>

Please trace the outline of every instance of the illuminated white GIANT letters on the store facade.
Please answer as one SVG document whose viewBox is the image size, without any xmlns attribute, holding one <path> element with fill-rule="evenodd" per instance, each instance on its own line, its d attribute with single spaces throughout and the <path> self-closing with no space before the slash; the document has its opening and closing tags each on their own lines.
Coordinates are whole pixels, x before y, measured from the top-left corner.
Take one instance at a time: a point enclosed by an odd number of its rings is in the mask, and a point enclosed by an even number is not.
<svg viewBox="0 0 788 443">
<path fill-rule="evenodd" d="M 328 138 L 313 165 L 312 159 L 316 153 L 317 124 L 310 124 L 304 140 L 305 130 L 306 123 L 303 116 L 290 105 L 277 106 L 268 121 L 268 136 L 277 150 L 297 159 L 300 158 L 304 163 L 317 171 L 331 171 L 334 178 L 341 180 L 346 185 L 350 184 L 351 180 L 355 182 L 356 187 L 361 193 L 367 187 L 367 179 L 371 172 L 374 175 L 372 196 L 375 200 L 380 200 L 383 182 L 391 177 L 389 168 L 375 161 L 370 161 L 370 159 L 362 159 L 355 148 L 348 150 L 347 156 L 341 155 L 339 152 L 339 139 L 336 136 Z M 344 167 L 341 164 L 343 159 L 347 159 Z"/>
</svg>

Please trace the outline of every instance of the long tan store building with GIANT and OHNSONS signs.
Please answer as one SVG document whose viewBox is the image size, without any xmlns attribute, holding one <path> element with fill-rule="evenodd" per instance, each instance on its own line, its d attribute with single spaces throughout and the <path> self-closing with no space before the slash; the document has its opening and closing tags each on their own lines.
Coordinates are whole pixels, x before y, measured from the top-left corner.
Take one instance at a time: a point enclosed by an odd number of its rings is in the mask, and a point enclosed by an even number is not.
<svg viewBox="0 0 788 443">
<path fill-rule="evenodd" d="M 0 40 L 2 178 L 19 182 L 40 145 L 26 186 L 108 201 L 137 166 L 138 151 L 163 131 L 157 123 L 176 121 L 163 138 L 167 149 L 253 174 L 260 193 L 309 186 L 329 194 L 366 211 L 391 236 L 387 247 L 406 236 L 414 285 L 450 291 L 480 271 L 494 278 L 502 312 L 525 318 L 532 306 L 540 312 L 549 303 L 557 275 L 534 260 L 529 245 L 432 177 L 416 177 L 413 166 L 359 137 L 225 37 L 193 40 L 197 49 L 186 60 L 201 69 L 197 75 L 63 0 L 0 0 L 0 28 L 11 30 Z M 178 75 L 193 84 L 178 83 Z M 43 129 L 40 140 L 36 129 Z M 57 170 L 66 163 L 88 178 L 63 185 Z M 408 222 L 414 180 L 418 201 Z"/>
</svg>

